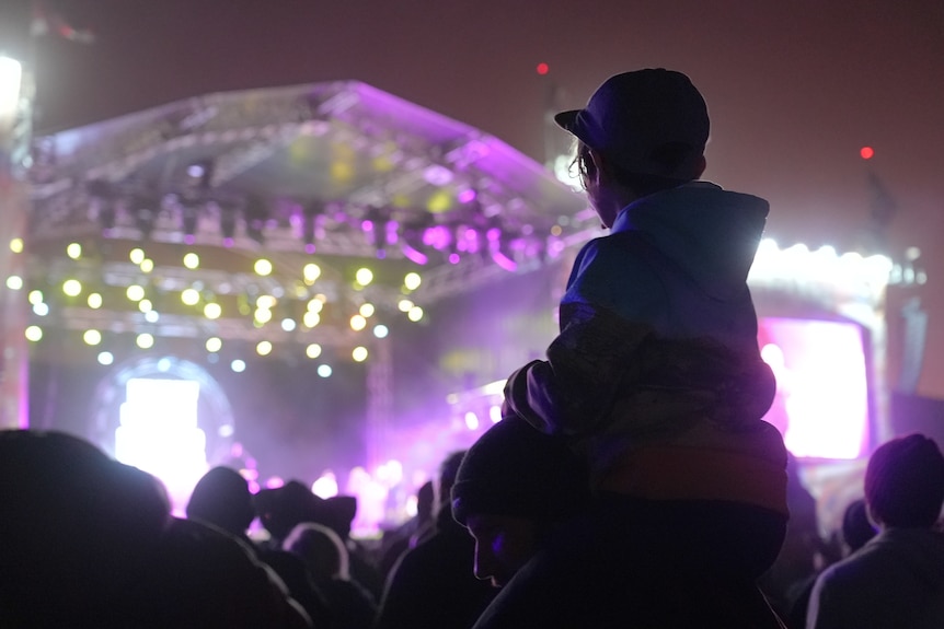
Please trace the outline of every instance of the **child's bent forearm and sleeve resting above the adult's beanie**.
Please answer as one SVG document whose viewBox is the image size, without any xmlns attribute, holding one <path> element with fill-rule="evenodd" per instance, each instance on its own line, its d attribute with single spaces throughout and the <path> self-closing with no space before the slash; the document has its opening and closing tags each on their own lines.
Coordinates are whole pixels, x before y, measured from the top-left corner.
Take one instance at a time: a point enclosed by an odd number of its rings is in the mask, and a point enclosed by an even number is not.
<svg viewBox="0 0 944 629">
<path fill-rule="evenodd" d="M 608 310 L 568 304 L 567 325 L 548 360 L 516 371 L 505 386 L 505 410 L 549 434 L 580 435 L 610 416 L 622 385 L 632 382 L 634 354 L 652 335 Z"/>
</svg>

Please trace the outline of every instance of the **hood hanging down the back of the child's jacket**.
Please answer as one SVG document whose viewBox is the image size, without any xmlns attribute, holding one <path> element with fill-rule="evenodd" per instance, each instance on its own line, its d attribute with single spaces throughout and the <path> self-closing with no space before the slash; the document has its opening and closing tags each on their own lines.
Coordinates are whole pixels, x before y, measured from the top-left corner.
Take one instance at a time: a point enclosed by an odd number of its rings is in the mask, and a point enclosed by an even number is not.
<svg viewBox="0 0 944 629">
<path fill-rule="evenodd" d="M 638 230 L 715 299 L 744 290 L 770 205 L 692 182 L 626 206 L 613 232 Z"/>
</svg>

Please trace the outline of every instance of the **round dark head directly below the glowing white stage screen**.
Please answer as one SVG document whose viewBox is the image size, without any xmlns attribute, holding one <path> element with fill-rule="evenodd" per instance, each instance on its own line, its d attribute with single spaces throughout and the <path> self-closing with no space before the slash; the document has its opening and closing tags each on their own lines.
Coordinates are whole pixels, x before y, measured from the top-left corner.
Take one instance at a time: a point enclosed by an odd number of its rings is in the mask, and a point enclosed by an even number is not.
<svg viewBox="0 0 944 629">
<path fill-rule="evenodd" d="M 245 478 L 229 467 L 214 467 L 207 471 L 187 502 L 187 517 L 243 535 L 255 519 Z"/>
</svg>

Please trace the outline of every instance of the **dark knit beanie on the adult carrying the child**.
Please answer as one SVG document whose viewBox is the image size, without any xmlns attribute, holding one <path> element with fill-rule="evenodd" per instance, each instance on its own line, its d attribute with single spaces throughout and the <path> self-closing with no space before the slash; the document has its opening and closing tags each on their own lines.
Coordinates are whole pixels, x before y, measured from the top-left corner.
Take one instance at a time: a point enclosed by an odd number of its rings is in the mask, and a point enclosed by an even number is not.
<svg viewBox="0 0 944 629">
<path fill-rule="evenodd" d="M 452 517 L 472 514 L 560 521 L 589 500 L 584 462 L 557 436 L 509 416 L 490 428 L 465 454 L 452 486 Z"/>
</svg>

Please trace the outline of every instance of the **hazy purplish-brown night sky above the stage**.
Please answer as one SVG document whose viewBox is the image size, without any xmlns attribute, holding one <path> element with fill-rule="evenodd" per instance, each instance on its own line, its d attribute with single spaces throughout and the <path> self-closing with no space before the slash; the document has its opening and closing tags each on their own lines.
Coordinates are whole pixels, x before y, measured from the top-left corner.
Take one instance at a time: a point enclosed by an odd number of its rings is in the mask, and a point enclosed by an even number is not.
<svg viewBox="0 0 944 629">
<path fill-rule="evenodd" d="M 866 173 L 882 178 L 899 208 L 889 252 L 919 246 L 930 276 L 913 289 L 932 315 L 919 391 L 944 397 L 940 0 L 59 4 L 97 40 L 39 40 L 41 129 L 216 91 L 359 80 L 540 160 L 549 82 L 575 107 L 612 73 L 682 70 L 712 114 L 706 178 L 768 198 L 781 244 L 852 248 L 870 213 Z"/>
</svg>

